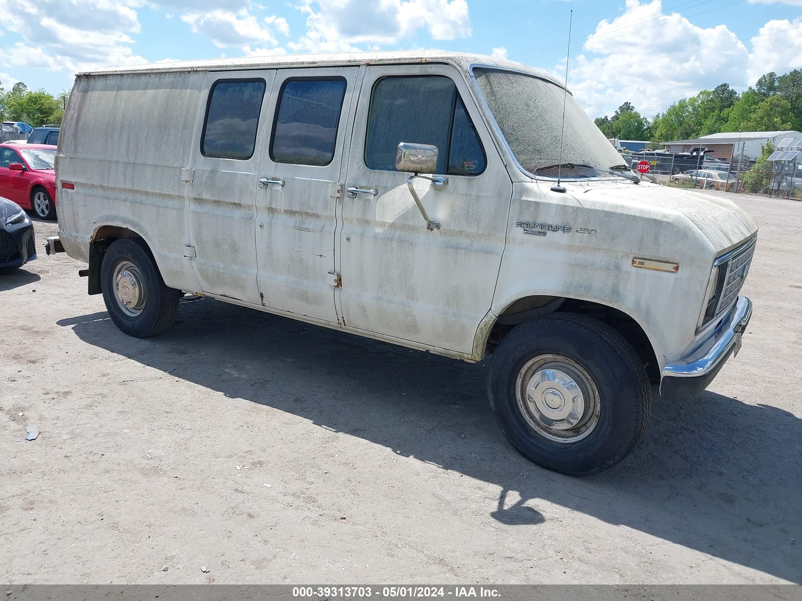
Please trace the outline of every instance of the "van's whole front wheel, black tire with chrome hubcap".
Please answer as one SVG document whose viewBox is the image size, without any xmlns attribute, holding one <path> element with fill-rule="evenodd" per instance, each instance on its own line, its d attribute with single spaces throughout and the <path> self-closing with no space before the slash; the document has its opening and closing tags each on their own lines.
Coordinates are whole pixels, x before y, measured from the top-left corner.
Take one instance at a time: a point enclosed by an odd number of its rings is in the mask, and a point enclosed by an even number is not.
<svg viewBox="0 0 802 601">
<path fill-rule="evenodd" d="M 597 474 L 641 440 L 651 409 L 646 369 L 609 325 L 553 313 L 519 325 L 493 353 L 488 396 L 512 446 L 549 470 Z"/>
</svg>

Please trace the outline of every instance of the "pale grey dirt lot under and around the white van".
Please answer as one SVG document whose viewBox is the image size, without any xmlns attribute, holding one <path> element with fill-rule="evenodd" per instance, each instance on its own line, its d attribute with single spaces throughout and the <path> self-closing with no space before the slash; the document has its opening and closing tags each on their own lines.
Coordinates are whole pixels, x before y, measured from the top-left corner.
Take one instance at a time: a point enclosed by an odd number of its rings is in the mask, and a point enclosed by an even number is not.
<svg viewBox="0 0 802 601">
<path fill-rule="evenodd" d="M 802 582 L 802 203 L 739 202 L 743 350 L 586 479 L 508 446 L 486 365 L 213 300 L 136 340 L 42 253 L 0 279 L 0 582 Z"/>
</svg>

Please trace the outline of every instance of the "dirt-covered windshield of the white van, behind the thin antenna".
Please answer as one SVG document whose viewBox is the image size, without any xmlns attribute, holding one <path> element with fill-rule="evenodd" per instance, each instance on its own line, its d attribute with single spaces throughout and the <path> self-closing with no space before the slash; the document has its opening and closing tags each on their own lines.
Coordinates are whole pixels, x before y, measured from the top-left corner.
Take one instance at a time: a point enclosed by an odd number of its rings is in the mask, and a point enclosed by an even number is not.
<svg viewBox="0 0 802 601">
<path fill-rule="evenodd" d="M 572 95 L 565 98 L 565 138 L 560 152 L 564 91 L 515 71 L 476 68 L 476 83 L 507 140 L 530 175 L 557 178 L 599 177 L 624 163 L 602 131 Z M 619 167 L 626 170 L 629 167 Z"/>
</svg>

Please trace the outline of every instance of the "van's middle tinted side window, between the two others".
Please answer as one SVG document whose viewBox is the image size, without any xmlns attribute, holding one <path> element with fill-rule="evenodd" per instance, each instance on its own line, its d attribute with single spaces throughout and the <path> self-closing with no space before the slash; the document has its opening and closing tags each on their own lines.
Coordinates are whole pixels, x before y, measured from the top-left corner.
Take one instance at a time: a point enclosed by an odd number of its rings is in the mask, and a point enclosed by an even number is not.
<svg viewBox="0 0 802 601">
<path fill-rule="evenodd" d="M 270 158 L 324 166 L 334 159 L 346 80 L 288 79 L 278 97 Z"/>
</svg>

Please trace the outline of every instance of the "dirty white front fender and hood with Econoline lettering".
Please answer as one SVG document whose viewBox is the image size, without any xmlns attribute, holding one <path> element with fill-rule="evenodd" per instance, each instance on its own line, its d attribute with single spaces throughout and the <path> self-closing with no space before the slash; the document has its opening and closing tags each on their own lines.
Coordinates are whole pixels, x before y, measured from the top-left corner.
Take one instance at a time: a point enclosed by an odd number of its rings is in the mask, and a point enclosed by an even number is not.
<svg viewBox="0 0 802 601">
<path fill-rule="evenodd" d="M 751 217 L 731 201 L 658 184 L 564 180 L 565 193 L 550 185 L 515 184 L 493 313 L 535 294 L 591 300 L 638 321 L 661 369 L 683 357 L 695 345 L 713 260 L 756 231 Z M 571 231 L 531 236 L 517 220 Z M 634 257 L 679 271 L 633 268 Z"/>
</svg>

